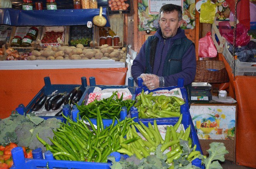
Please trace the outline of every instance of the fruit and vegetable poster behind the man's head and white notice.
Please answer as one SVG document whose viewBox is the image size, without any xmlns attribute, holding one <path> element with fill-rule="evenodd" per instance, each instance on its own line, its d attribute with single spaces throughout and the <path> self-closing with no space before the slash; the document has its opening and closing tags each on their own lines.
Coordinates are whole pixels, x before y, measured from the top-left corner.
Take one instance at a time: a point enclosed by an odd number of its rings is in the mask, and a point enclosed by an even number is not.
<svg viewBox="0 0 256 169">
<path fill-rule="evenodd" d="M 183 24 L 181 29 L 194 29 L 195 0 L 183 0 Z M 149 14 L 149 0 L 138 0 L 139 31 L 156 31 L 159 28 L 158 14 Z"/>
</svg>

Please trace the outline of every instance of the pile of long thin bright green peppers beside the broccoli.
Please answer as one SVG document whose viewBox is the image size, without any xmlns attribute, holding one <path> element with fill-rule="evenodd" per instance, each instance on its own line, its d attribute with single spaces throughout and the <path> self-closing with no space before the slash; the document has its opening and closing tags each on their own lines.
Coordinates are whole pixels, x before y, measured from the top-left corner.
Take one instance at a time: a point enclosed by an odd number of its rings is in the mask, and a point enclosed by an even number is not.
<svg viewBox="0 0 256 169">
<path fill-rule="evenodd" d="M 86 116 L 83 116 L 82 119 L 77 118 L 77 122 L 64 115 L 63 117 L 67 120 L 66 124 L 61 123 L 60 128 L 53 131 L 54 137 L 49 138 L 53 145 L 46 143 L 37 134 L 37 139 L 53 153 L 57 160 L 107 163 L 107 156 L 121 148 L 120 138 L 122 138 L 123 144 L 134 142 L 139 138 L 124 138 L 128 133 L 129 126 L 135 123 L 130 118 L 125 118 L 121 122 L 116 118 L 117 125 L 115 126 L 115 118 L 113 118 L 112 124 L 104 129 L 98 108 L 97 129 Z M 89 130 L 84 120 L 89 122 L 92 130 Z"/>
</svg>

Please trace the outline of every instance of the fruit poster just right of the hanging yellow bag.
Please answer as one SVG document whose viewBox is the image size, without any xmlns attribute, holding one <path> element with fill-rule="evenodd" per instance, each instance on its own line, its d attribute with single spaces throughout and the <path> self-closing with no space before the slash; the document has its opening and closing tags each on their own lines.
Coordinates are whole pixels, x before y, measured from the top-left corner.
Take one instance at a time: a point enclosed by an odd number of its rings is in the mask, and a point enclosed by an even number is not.
<svg viewBox="0 0 256 169">
<path fill-rule="evenodd" d="M 228 3 L 225 0 L 217 0 L 217 8 L 218 11 L 215 14 L 216 20 L 229 20 L 230 9 L 228 7 Z"/>
</svg>

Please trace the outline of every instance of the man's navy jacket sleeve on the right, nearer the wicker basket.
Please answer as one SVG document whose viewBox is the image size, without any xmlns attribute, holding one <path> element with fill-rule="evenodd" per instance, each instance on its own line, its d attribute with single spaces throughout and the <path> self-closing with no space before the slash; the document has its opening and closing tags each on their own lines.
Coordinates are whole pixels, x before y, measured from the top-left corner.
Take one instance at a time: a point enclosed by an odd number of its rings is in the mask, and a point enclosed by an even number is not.
<svg viewBox="0 0 256 169">
<path fill-rule="evenodd" d="M 191 84 L 196 76 L 196 52 L 194 45 L 188 47 L 185 55 L 182 57 L 182 71 L 170 76 L 165 76 L 165 86 L 177 86 L 178 78 L 184 79 L 184 85 Z"/>
</svg>

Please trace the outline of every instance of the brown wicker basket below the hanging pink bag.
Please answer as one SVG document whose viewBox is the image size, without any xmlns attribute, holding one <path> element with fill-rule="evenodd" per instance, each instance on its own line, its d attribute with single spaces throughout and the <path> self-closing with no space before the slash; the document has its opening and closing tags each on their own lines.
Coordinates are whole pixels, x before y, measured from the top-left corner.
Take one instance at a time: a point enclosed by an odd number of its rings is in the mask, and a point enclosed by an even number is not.
<svg viewBox="0 0 256 169">
<path fill-rule="evenodd" d="M 194 82 L 229 82 L 224 62 L 219 60 L 196 61 L 196 77 Z"/>
</svg>

